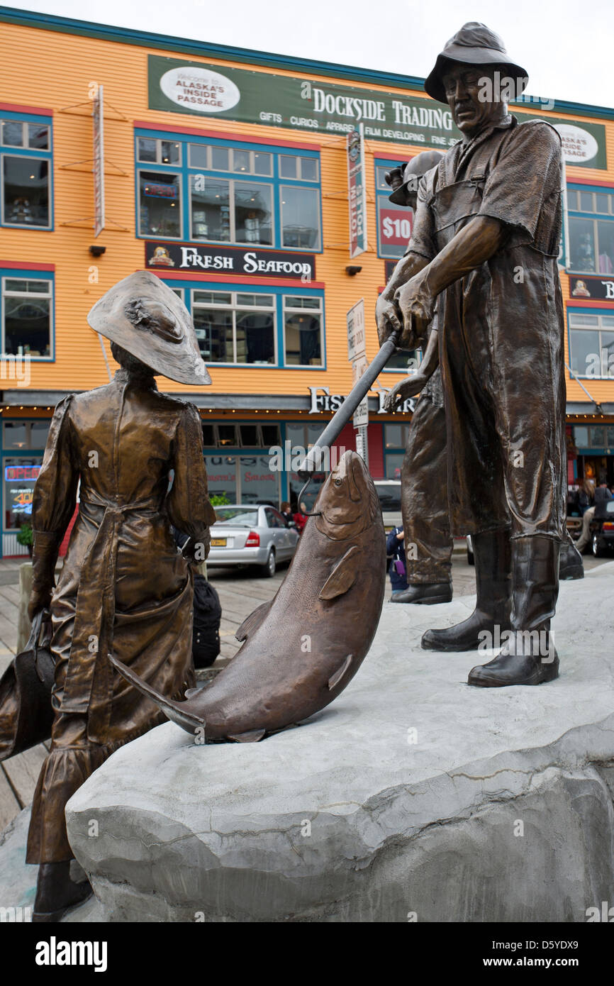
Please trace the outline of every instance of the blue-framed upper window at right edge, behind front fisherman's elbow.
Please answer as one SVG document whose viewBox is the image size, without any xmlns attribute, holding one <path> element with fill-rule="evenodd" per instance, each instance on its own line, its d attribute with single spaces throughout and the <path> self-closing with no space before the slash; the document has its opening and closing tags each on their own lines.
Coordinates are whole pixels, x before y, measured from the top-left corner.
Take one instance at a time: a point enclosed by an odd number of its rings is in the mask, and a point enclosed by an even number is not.
<svg viewBox="0 0 614 986">
<path fill-rule="evenodd" d="M 584 214 L 570 215 L 571 269 L 579 273 L 614 274 L 614 192 L 572 188 L 567 199 L 570 213 Z M 586 214 L 592 215 L 588 218 Z"/>
</svg>

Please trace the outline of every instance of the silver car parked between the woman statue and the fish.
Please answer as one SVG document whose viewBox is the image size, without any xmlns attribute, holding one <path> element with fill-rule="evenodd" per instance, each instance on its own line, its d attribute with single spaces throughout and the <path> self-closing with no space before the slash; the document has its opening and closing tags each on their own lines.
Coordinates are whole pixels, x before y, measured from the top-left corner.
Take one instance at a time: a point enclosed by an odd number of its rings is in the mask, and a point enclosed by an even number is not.
<svg viewBox="0 0 614 986">
<path fill-rule="evenodd" d="M 211 528 L 211 550 L 207 564 L 214 566 L 257 565 L 270 579 L 277 566 L 290 561 L 297 550 L 299 534 L 290 528 L 274 507 L 262 504 L 229 504 L 215 508 L 217 521 Z"/>
</svg>

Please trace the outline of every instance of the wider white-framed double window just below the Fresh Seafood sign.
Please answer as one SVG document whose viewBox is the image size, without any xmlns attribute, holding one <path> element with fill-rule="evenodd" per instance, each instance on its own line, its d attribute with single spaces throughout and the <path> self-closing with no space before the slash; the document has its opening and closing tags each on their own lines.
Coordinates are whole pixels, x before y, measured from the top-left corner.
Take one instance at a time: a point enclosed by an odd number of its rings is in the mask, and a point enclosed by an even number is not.
<svg viewBox="0 0 614 986">
<path fill-rule="evenodd" d="M 275 299 L 239 291 L 192 291 L 205 363 L 275 364 Z"/>
</svg>

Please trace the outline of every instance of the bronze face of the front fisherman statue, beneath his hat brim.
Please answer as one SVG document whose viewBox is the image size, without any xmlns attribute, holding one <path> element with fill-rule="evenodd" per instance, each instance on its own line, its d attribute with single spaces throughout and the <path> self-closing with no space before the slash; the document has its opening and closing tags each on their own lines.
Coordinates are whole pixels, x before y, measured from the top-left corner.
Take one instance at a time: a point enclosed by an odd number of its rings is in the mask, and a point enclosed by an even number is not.
<svg viewBox="0 0 614 986">
<path fill-rule="evenodd" d="M 494 87 L 484 85 L 484 79 L 492 77 L 492 72 L 490 66 L 450 62 L 443 73 L 447 105 L 454 123 L 467 140 L 475 137 L 507 111 L 505 103 L 493 101 Z M 491 102 L 485 96 L 490 97 Z"/>
</svg>

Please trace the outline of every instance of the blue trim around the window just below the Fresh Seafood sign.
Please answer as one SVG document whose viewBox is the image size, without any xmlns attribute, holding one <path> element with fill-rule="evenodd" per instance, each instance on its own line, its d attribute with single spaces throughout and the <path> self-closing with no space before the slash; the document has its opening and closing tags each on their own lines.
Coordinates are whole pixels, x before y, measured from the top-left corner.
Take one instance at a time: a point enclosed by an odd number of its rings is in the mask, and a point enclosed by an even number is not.
<svg viewBox="0 0 614 986">
<path fill-rule="evenodd" d="M 163 280 L 165 280 L 165 279 L 163 278 Z M 265 285 L 265 284 L 247 284 L 247 283 L 244 283 L 244 282 L 238 284 L 236 281 L 228 281 L 228 282 L 226 282 L 226 281 L 224 281 L 224 282 L 221 282 L 221 281 L 207 281 L 207 280 L 202 280 L 202 281 L 200 281 L 200 280 L 198 280 L 198 281 L 194 281 L 194 280 L 189 280 L 188 281 L 188 280 L 185 280 L 185 281 L 183 281 L 183 280 L 180 280 L 178 278 L 177 279 L 175 279 L 175 278 L 172 278 L 172 279 L 169 278 L 169 280 L 165 280 L 165 284 L 167 284 L 170 288 L 183 288 L 184 289 L 184 291 L 183 291 L 183 302 L 184 302 L 185 307 L 187 308 L 188 312 L 190 313 L 190 315 L 192 314 L 192 298 L 191 298 L 190 291 L 223 291 L 223 292 L 235 291 L 235 292 L 239 292 L 239 294 L 245 294 L 245 295 L 258 294 L 258 295 L 274 295 L 275 296 L 275 326 L 276 326 L 275 343 L 276 343 L 276 351 L 277 351 L 277 362 L 276 363 L 268 363 L 266 366 L 263 366 L 261 364 L 256 365 L 256 364 L 253 364 L 253 363 L 208 363 L 207 366 L 210 369 L 214 369 L 214 368 L 217 368 L 217 367 L 233 367 L 235 369 L 238 369 L 239 368 L 240 370 L 296 370 L 296 371 L 303 371 L 303 372 L 307 371 L 309 373 L 311 373 L 311 372 L 320 373 L 321 371 L 326 370 L 326 311 L 325 311 L 324 290 L 323 290 L 323 288 L 306 288 L 303 285 L 299 286 L 299 285 L 290 285 L 290 284 L 288 286 L 284 285 L 283 287 L 281 285 L 279 285 L 279 286 L 269 286 L 269 285 Z M 293 297 L 306 296 L 308 298 L 319 298 L 321 300 L 321 302 L 322 302 L 322 311 L 321 311 L 321 316 L 322 316 L 322 341 L 321 341 L 322 365 L 321 366 L 319 366 L 319 367 L 313 367 L 313 366 L 305 366 L 305 367 L 301 366 L 301 367 L 298 367 L 298 366 L 292 366 L 290 364 L 286 364 L 285 363 L 285 356 L 284 356 L 284 321 L 283 321 L 283 319 L 284 319 L 284 305 L 283 305 L 284 295 L 292 295 Z M 308 312 L 308 309 L 306 309 L 306 311 Z"/>
</svg>

